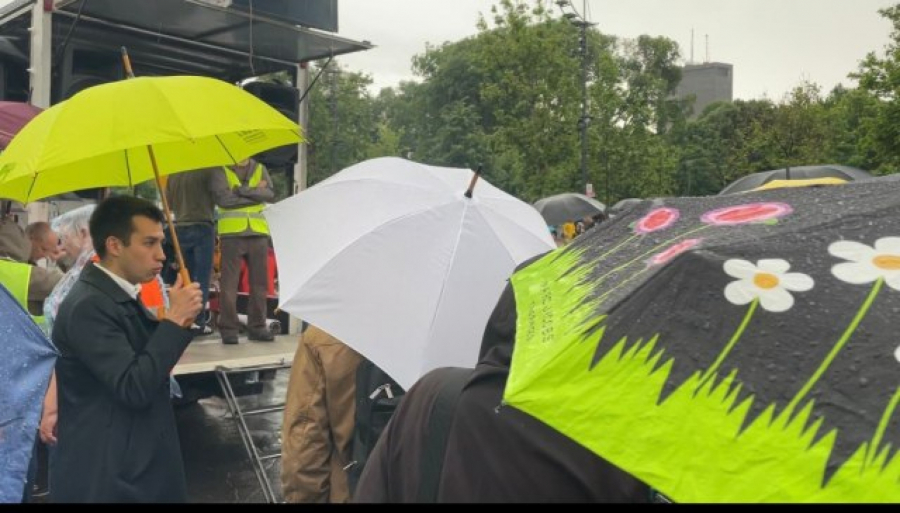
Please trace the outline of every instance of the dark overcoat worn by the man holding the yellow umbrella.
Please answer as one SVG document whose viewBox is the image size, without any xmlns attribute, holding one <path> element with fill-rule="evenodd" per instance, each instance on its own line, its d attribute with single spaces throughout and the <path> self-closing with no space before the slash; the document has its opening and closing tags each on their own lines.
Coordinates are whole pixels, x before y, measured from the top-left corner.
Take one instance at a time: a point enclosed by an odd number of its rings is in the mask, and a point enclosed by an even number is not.
<svg viewBox="0 0 900 513">
<path fill-rule="evenodd" d="M 59 308 L 54 502 L 185 502 L 169 372 L 191 341 L 95 265 Z"/>
</svg>

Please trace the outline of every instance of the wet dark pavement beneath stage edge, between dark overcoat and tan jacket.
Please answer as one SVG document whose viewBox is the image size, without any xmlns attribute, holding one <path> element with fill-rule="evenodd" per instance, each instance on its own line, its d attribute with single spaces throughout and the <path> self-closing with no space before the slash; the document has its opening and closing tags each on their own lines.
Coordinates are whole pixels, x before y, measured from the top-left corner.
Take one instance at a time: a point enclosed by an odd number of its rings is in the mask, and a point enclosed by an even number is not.
<svg viewBox="0 0 900 513">
<path fill-rule="evenodd" d="M 279 370 L 262 381 L 260 394 L 238 397 L 244 410 L 284 402 L 290 369 Z M 259 479 L 250 463 L 236 420 L 224 398 L 213 396 L 176 406 L 181 451 L 187 473 L 188 500 L 192 503 L 264 503 Z M 282 412 L 246 417 L 261 454 L 280 452 Z M 281 500 L 281 460 L 264 462 L 277 500 Z"/>
</svg>

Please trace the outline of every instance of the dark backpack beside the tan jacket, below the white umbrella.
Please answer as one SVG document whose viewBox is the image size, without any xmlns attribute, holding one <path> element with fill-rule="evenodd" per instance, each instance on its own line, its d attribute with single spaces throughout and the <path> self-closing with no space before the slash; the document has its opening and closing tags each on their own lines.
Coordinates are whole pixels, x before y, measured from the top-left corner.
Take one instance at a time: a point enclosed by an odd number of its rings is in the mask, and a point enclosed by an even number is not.
<svg viewBox="0 0 900 513">
<path fill-rule="evenodd" d="M 356 483 L 378 437 L 405 393 L 396 381 L 368 359 L 363 359 L 356 368 L 356 417 L 347 466 L 351 494 L 356 490 Z"/>
</svg>

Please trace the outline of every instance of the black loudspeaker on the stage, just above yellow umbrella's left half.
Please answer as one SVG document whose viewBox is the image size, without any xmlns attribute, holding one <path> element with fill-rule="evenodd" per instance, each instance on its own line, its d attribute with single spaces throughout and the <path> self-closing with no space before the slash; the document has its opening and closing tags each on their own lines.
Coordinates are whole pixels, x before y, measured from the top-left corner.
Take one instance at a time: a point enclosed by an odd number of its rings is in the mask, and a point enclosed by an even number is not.
<svg viewBox="0 0 900 513">
<path fill-rule="evenodd" d="M 104 51 L 70 44 L 60 61 L 55 84 L 56 102 L 95 85 L 105 84 L 125 77 L 122 56 L 119 52 Z"/>
</svg>

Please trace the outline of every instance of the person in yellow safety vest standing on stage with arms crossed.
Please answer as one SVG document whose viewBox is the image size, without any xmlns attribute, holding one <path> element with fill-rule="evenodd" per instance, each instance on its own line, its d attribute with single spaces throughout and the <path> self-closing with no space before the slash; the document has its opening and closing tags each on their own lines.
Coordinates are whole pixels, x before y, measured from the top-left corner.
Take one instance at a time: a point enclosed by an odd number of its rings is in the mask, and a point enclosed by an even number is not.
<svg viewBox="0 0 900 513">
<path fill-rule="evenodd" d="M 241 262 L 247 259 L 250 294 L 247 298 L 247 331 L 250 340 L 271 342 L 266 329 L 268 292 L 269 225 L 262 211 L 275 198 L 265 166 L 252 159 L 215 173 L 210 184 L 218 207 L 221 245 L 219 278 L 219 332 L 223 344 L 237 344 L 237 289 Z"/>
</svg>

